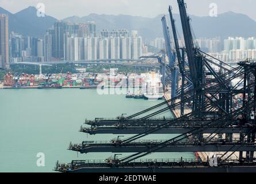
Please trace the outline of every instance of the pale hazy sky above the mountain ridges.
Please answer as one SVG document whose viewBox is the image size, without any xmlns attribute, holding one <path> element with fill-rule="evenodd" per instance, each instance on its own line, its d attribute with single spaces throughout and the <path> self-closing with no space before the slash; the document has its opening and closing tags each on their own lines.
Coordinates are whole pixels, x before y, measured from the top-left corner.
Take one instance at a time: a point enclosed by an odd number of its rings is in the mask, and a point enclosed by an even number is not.
<svg viewBox="0 0 256 184">
<path fill-rule="evenodd" d="M 45 4 L 45 13 L 58 19 L 70 16 L 97 14 L 128 14 L 132 16 L 155 17 L 167 13 L 167 6 L 172 5 L 178 12 L 177 0 L 0 0 L 0 6 L 16 13 L 37 3 Z M 207 16 L 209 5 L 216 3 L 218 13 L 234 11 L 243 13 L 256 20 L 255 0 L 185 0 L 189 14 Z"/>
</svg>

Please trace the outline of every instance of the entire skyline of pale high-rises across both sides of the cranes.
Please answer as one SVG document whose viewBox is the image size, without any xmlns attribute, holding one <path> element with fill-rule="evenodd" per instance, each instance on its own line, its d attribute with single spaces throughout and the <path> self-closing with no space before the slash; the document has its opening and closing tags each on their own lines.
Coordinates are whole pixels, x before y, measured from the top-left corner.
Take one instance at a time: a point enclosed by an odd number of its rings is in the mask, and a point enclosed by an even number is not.
<svg viewBox="0 0 256 184">
<path fill-rule="evenodd" d="M 12 55 L 10 55 L 10 58 L 12 62 L 17 60 L 29 61 L 31 59 L 36 59 L 37 62 L 51 62 L 52 59 L 74 61 L 139 59 L 143 54 L 149 55 L 152 52 L 148 52 L 148 45 L 159 50 L 165 49 L 165 40 L 161 37 L 156 37 L 155 40 L 147 42 L 146 46 L 144 46 L 137 30 L 132 32 L 127 29 L 103 29 L 97 31 L 96 22 L 91 21 L 87 22 L 87 24 L 55 22 L 54 26 L 45 33 L 43 40 L 35 37 L 24 38 L 26 45 L 22 46 L 20 45 L 22 43 L 22 35 L 11 34 L 12 47 L 10 48 L 12 48 L 12 51 L 10 53 Z M 241 37 L 241 39 L 244 38 Z M 250 47 L 226 49 L 225 40 L 221 41 L 220 37 L 210 39 L 200 37 L 197 39 L 197 44 L 202 51 L 216 53 L 216 57 L 224 62 L 237 61 L 247 57 L 255 59 L 255 37 L 245 39 L 253 40 L 253 43 L 250 43 Z M 136 45 L 139 45 L 139 47 Z M 179 45 L 184 45 L 184 41 L 179 40 Z"/>
</svg>

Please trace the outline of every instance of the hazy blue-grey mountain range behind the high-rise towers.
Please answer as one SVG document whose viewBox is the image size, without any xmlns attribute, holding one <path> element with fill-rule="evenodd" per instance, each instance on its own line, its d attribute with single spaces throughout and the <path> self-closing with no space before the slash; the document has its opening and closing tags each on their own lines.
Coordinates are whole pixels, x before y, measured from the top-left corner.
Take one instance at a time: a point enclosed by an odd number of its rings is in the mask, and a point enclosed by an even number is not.
<svg viewBox="0 0 256 184">
<path fill-rule="evenodd" d="M 36 7 L 29 6 L 28 8 L 12 14 L 9 11 L 0 7 L 0 13 L 9 15 L 9 30 L 20 33 L 24 36 L 43 37 L 45 31 L 50 28 L 56 18 L 47 16 L 37 17 Z M 65 18 L 63 21 L 72 23 L 86 23 L 87 21 L 95 21 L 97 30 L 102 29 L 128 29 L 138 30 L 143 38 L 154 39 L 155 37 L 163 37 L 161 16 L 154 18 L 127 16 L 127 15 L 106 15 L 106 14 L 89 14 L 84 17 L 72 16 Z M 198 17 L 190 16 L 193 32 L 198 37 L 221 37 L 256 36 L 256 22 L 250 17 L 227 12 L 219 14 L 217 17 Z M 181 22 L 178 14 L 174 14 L 177 30 L 182 36 Z M 167 20 L 170 20 L 167 14 Z M 170 21 L 168 22 L 170 25 Z"/>
</svg>

